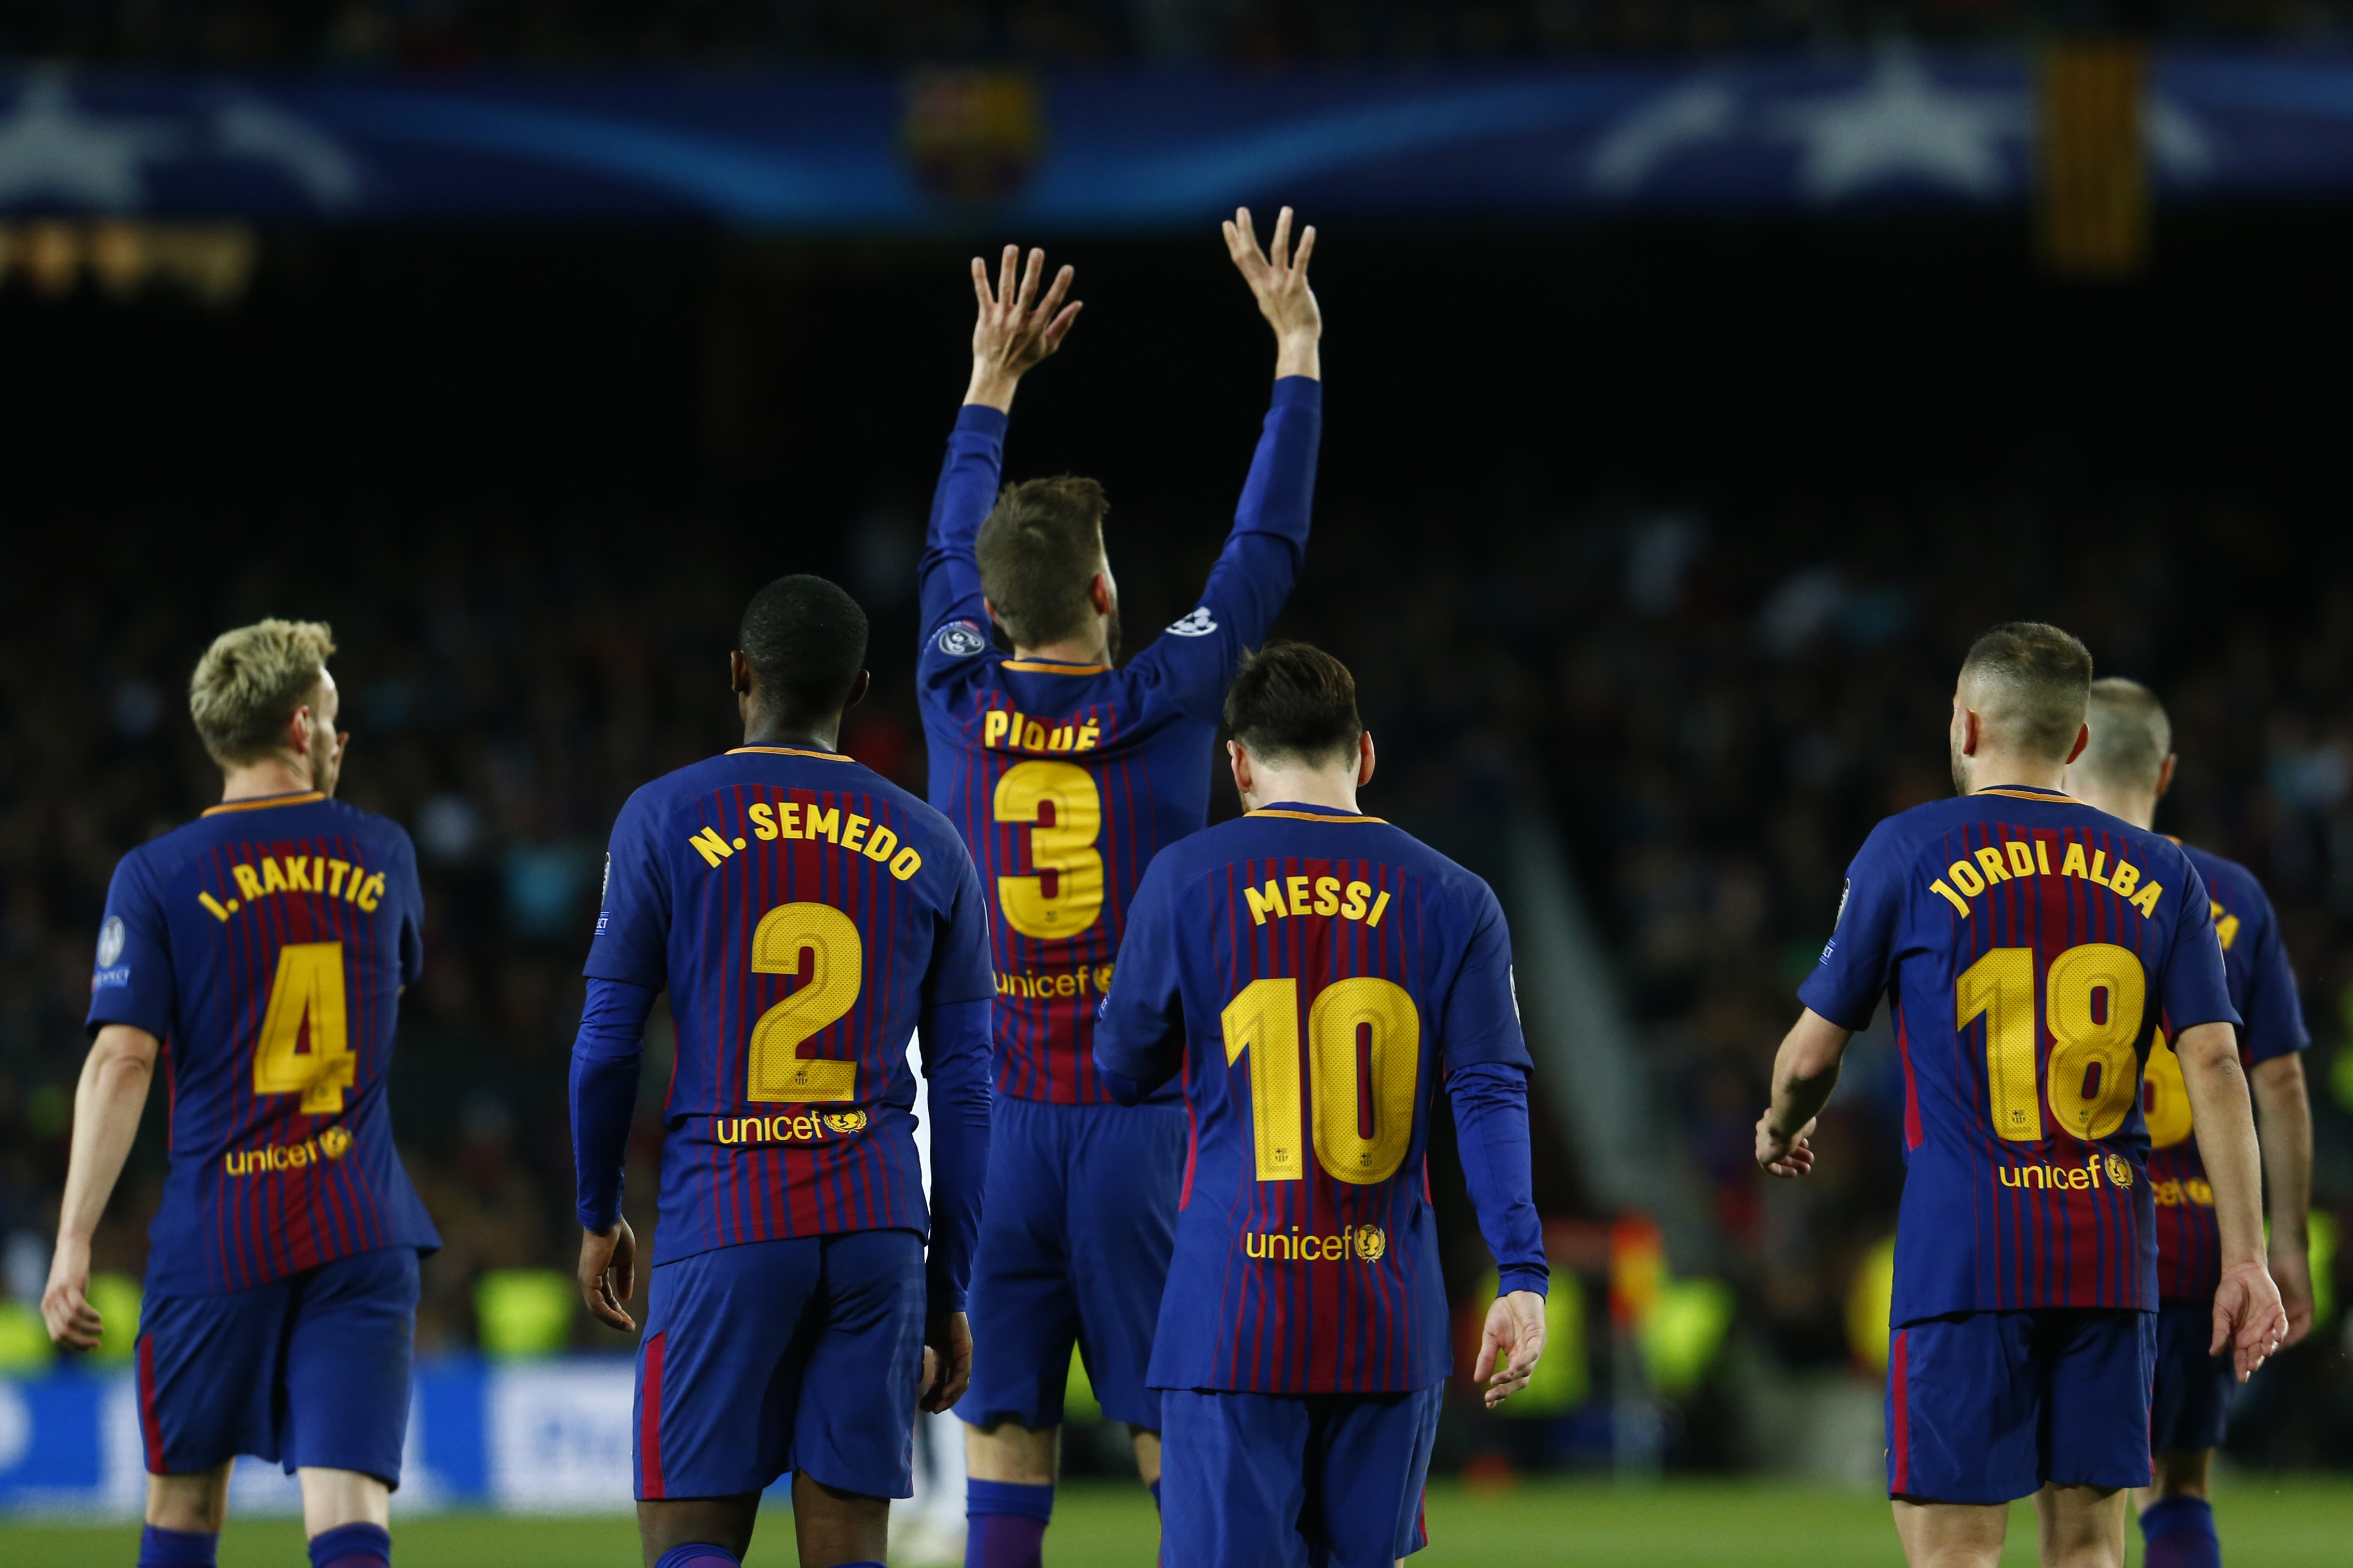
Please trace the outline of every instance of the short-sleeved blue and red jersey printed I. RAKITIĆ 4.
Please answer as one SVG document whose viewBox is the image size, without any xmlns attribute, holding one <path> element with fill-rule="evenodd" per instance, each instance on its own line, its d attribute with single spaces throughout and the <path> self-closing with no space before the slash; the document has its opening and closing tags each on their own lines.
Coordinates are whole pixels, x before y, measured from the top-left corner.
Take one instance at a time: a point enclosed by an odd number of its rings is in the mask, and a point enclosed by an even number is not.
<svg viewBox="0 0 2353 1568">
<path fill-rule="evenodd" d="M 89 1026 L 162 1041 L 172 1172 L 148 1293 L 440 1248 L 384 1099 L 421 930 L 409 836 L 320 793 L 214 805 L 122 857 Z"/>
</svg>

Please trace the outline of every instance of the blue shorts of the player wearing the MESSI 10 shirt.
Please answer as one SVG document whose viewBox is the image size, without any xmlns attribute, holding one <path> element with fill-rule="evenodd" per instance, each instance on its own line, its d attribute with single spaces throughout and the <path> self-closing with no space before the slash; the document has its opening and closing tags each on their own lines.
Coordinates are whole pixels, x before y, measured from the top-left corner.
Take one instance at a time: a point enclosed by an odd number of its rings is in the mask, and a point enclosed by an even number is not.
<svg viewBox="0 0 2353 1568">
<path fill-rule="evenodd" d="M 1445 1389 L 1160 1394 L 1160 1561 L 1391 1568 L 1431 1544 L 1421 1483 Z"/>
</svg>

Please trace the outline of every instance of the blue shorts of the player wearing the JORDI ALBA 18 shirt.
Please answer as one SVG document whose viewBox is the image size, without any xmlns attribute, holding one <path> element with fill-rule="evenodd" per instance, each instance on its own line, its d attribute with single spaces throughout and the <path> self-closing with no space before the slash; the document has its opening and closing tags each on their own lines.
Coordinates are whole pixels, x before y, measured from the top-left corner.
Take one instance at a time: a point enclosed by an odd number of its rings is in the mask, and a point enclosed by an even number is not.
<svg viewBox="0 0 2353 1568">
<path fill-rule="evenodd" d="M 2148 1486 L 2158 1314 L 1955 1311 L 1887 1347 L 1887 1495 L 2012 1502 Z"/>
</svg>

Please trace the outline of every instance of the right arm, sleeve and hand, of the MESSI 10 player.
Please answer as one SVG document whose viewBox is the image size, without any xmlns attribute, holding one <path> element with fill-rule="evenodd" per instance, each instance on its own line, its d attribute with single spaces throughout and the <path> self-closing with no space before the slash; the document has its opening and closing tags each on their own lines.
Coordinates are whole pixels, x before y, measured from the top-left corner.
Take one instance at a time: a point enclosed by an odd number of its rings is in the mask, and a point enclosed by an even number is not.
<svg viewBox="0 0 2353 1568">
<path fill-rule="evenodd" d="M 1534 1062 L 1511 986 L 1511 928 L 1494 892 L 1482 892 L 1478 928 L 1438 1015 L 1438 1050 L 1454 1102 L 1464 1187 L 1497 1267 L 1497 1300 L 1471 1368 L 1494 1410 L 1527 1387 L 1544 1356 L 1551 1267 L 1529 1163 L 1527 1074 Z"/>
</svg>

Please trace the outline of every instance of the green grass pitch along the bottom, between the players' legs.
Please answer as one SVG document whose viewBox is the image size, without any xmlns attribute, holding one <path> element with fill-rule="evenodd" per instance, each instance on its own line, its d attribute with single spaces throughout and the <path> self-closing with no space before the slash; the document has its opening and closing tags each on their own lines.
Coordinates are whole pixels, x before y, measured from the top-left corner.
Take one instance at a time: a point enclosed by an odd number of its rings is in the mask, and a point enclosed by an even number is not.
<svg viewBox="0 0 2353 1568">
<path fill-rule="evenodd" d="M 2217 1500 L 2233 1568 L 2344 1568 L 2353 1481 L 2235 1476 Z M 136 1556 L 120 1526 L 0 1523 L 9 1568 L 106 1568 Z M 1141 1493 L 1066 1488 L 1047 1535 L 1047 1568 L 1146 1568 L 1158 1533 Z M 638 1561 L 628 1519 L 416 1519 L 402 1521 L 400 1568 L 574 1568 Z M 299 1568 L 301 1530 L 287 1521 L 231 1523 L 221 1568 Z M 793 1561 L 791 1523 L 772 1516 L 751 1563 Z M 1501 1495 L 1431 1488 L 1431 1549 L 1412 1568 L 1885 1568 L 1897 1556 L 1887 1504 L 1746 1481 L 1673 1481 L 1612 1488 L 1591 1481 L 1527 1483 Z M 2005 1563 L 2033 1563 L 2033 1511 L 2019 1509 Z M 2139 1561 L 2134 1537 L 2132 1561 Z"/>
</svg>

